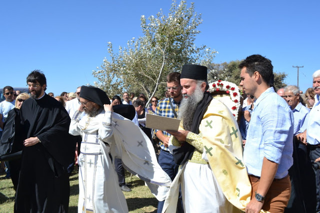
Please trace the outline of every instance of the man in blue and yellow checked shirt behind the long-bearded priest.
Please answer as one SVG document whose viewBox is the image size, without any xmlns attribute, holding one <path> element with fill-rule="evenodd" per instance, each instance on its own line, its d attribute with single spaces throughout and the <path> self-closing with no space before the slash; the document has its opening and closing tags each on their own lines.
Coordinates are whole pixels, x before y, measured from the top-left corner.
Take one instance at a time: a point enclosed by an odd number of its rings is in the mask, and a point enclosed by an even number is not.
<svg viewBox="0 0 320 213">
<path fill-rule="evenodd" d="M 180 101 L 182 99 L 182 89 L 180 85 L 180 73 L 171 72 L 166 76 L 166 90 L 169 94 L 168 98 L 161 100 L 156 109 L 155 115 L 177 118 L 177 112 L 179 109 Z M 160 154 L 158 157 L 158 163 L 160 167 L 166 172 L 173 181 L 177 171 L 178 165 L 174 163 L 172 154 L 169 152 L 168 141 L 170 134 L 161 130 L 154 130 L 156 137 L 159 139 Z M 161 213 L 163 208 L 163 202 L 158 203 L 157 213 Z M 179 213 L 183 212 L 182 199 L 179 198 L 177 203 Z"/>
</svg>

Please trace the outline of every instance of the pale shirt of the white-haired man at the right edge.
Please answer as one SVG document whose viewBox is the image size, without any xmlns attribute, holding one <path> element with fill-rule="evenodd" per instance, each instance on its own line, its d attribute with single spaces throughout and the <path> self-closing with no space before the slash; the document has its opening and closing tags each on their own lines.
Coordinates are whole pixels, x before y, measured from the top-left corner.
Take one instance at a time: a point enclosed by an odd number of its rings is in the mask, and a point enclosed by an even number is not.
<svg viewBox="0 0 320 213">
<path fill-rule="evenodd" d="M 313 105 L 307 117 L 306 142 L 318 145 L 320 144 L 320 102 Z"/>
</svg>

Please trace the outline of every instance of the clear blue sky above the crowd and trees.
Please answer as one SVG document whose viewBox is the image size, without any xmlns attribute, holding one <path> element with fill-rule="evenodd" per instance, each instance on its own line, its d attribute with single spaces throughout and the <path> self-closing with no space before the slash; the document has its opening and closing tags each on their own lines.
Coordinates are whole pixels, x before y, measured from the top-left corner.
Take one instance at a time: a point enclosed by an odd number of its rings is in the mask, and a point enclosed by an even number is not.
<svg viewBox="0 0 320 213">
<path fill-rule="evenodd" d="M 178 1 L 179 2 L 179 1 Z M 187 1 L 189 3 L 191 1 Z M 218 51 L 213 62 L 261 54 L 287 84 L 305 91 L 320 69 L 318 0 L 195 0 L 202 14 L 196 44 Z M 114 50 L 141 36 L 140 16 L 168 12 L 171 0 L 0 1 L 0 87 L 21 87 L 33 69 L 47 79 L 46 92 L 59 95 L 93 84 L 92 70 Z"/>
</svg>

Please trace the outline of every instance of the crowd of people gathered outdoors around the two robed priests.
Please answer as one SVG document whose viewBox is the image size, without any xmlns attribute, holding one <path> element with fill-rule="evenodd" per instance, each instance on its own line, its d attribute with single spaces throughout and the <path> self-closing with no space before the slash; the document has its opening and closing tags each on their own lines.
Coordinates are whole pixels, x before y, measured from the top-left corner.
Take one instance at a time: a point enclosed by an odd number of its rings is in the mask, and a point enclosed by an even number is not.
<svg viewBox="0 0 320 213">
<path fill-rule="evenodd" d="M 92 86 L 46 94 L 39 70 L 26 78 L 29 94 L 4 87 L 0 159 L 14 212 L 67 212 L 74 165 L 79 213 L 128 212 L 125 170 L 145 182 L 158 213 L 320 212 L 320 70 L 303 93 L 294 85 L 275 92 L 261 55 L 239 69 L 240 107 L 212 97 L 207 68 L 196 64 L 169 73 L 164 97 L 149 106 L 143 93 L 108 97 Z M 213 85 L 221 92 L 221 81 Z M 180 126 L 150 129 L 147 113 Z"/>
</svg>

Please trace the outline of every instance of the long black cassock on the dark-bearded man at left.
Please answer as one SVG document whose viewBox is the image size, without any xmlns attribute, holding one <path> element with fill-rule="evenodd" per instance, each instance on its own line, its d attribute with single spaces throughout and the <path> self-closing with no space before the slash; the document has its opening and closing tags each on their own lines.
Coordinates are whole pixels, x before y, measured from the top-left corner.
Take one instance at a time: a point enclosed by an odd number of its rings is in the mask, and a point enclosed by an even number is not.
<svg viewBox="0 0 320 213">
<path fill-rule="evenodd" d="M 39 100 L 25 100 L 20 118 L 23 139 L 38 137 L 40 143 L 23 147 L 14 212 L 67 212 L 67 167 L 75 150 L 68 134 L 69 115 L 60 102 L 45 94 Z"/>
</svg>

